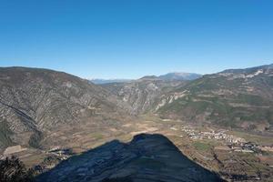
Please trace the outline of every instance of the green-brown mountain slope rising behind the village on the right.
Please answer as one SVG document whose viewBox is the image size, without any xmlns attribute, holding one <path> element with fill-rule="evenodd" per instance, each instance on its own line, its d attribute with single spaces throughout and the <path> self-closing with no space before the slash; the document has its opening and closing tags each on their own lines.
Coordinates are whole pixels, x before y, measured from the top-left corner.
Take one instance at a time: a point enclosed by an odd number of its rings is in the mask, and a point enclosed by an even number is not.
<svg viewBox="0 0 273 182">
<path fill-rule="evenodd" d="M 161 96 L 163 117 L 268 130 L 273 124 L 273 65 L 202 76 Z"/>
</svg>

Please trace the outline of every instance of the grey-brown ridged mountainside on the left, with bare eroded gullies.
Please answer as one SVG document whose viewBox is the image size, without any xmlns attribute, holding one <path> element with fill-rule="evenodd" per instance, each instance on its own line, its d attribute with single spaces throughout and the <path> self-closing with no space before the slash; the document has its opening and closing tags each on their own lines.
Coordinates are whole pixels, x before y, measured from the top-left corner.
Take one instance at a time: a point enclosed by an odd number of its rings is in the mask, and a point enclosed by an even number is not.
<svg viewBox="0 0 273 182">
<path fill-rule="evenodd" d="M 122 116 L 122 105 L 100 86 L 76 76 L 0 68 L 0 150 L 15 143 L 39 147 L 45 130 L 93 116 Z"/>
</svg>

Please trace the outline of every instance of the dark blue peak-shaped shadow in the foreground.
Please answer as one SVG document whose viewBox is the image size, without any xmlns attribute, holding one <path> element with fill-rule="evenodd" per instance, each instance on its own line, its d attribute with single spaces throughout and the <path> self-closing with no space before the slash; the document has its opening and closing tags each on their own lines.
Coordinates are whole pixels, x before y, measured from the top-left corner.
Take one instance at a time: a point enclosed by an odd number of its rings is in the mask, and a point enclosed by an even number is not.
<svg viewBox="0 0 273 182">
<path fill-rule="evenodd" d="M 167 137 L 145 134 L 128 144 L 115 140 L 70 157 L 37 181 L 121 181 L 124 177 L 134 182 L 223 181 L 185 157 Z"/>
</svg>

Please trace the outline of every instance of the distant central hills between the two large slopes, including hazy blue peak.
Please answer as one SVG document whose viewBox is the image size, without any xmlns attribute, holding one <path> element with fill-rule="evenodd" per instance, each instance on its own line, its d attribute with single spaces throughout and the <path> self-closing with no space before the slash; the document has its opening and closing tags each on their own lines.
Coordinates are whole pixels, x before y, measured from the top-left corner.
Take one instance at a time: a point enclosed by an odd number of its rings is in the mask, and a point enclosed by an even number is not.
<svg viewBox="0 0 273 182">
<path fill-rule="evenodd" d="M 184 86 L 190 80 L 200 76 L 192 73 L 168 73 L 162 76 L 144 76 L 137 80 L 125 80 L 124 82 L 109 80 L 108 83 L 100 84 L 100 86 L 130 106 L 134 114 L 144 114 L 153 108 L 159 96 L 177 86 Z"/>
</svg>

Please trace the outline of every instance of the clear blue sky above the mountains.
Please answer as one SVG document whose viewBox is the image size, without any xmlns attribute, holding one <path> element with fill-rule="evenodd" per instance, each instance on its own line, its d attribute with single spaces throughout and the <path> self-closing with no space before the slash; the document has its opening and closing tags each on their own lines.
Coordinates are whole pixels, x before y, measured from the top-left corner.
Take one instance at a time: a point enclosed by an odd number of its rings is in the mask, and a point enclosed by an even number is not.
<svg viewBox="0 0 273 182">
<path fill-rule="evenodd" d="M 137 78 L 270 63 L 272 0 L 0 1 L 0 66 Z"/>
</svg>

